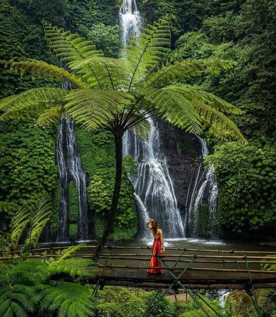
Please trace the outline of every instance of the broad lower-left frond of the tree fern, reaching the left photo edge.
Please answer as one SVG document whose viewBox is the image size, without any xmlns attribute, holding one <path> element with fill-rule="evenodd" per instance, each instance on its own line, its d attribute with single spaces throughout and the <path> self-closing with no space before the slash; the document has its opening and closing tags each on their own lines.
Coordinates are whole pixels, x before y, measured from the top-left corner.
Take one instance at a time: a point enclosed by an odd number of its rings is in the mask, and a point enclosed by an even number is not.
<svg viewBox="0 0 276 317">
<path fill-rule="evenodd" d="M 0 120 L 19 119 L 30 113 L 43 113 L 53 105 L 64 105 L 64 97 L 69 90 L 62 88 L 33 88 L 18 95 L 0 100 Z"/>
</svg>

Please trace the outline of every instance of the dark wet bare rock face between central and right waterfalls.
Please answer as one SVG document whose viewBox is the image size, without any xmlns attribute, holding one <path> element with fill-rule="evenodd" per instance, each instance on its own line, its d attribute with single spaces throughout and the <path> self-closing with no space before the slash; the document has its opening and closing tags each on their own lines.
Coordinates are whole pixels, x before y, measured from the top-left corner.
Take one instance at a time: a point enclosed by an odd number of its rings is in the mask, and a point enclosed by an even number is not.
<svg viewBox="0 0 276 317">
<path fill-rule="evenodd" d="M 160 148 L 167 159 L 178 208 L 183 222 L 186 219 L 186 234 L 189 235 L 186 212 L 189 212 L 192 197 L 194 199 L 205 174 L 201 144 L 194 134 L 186 133 L 164 120 L 158 118 L 156 120 L 160 135 Z M 208 203 L 206 195 L 202 202 Z"/>
</svg>

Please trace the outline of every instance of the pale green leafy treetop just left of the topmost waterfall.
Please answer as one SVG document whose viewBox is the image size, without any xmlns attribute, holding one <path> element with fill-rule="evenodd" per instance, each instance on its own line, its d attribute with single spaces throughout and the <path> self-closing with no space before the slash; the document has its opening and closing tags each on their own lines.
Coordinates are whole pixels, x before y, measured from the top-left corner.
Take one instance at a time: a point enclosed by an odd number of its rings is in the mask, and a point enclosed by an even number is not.
<svg viewBox="0 0 276 317">
<path fill-rule="evenodd" d="M 117 58 L 121 41 L 119 37 L 119 26 L 94 24 L 90 29 L 80 28 L 80 32 L 93 42 L 98 49 L 104 52 L 107 57 Z"/>
</svg>

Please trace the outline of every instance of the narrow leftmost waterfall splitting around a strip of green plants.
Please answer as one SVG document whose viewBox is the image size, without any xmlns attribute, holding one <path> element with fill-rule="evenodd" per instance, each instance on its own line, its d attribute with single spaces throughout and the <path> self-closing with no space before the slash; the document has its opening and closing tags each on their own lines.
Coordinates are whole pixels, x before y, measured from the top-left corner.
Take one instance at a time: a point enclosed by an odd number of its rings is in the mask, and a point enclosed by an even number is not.
<svg viewBox="0 0 276 317">
<path fill-rule="evenodd" d="M 78 191 L 79 221 L 78 239 L 88 239 L 88 206 L 86 197 L 86 175 L 81 167 L 77 150 L 73 121 L 62 118 L 57 140 L 57 164 L 61 184 L 58 222 L 58 242 L 69 240 L 68 235 L 68 182 L 73 180 Z"/>
</svg>

